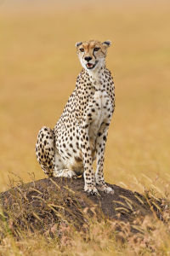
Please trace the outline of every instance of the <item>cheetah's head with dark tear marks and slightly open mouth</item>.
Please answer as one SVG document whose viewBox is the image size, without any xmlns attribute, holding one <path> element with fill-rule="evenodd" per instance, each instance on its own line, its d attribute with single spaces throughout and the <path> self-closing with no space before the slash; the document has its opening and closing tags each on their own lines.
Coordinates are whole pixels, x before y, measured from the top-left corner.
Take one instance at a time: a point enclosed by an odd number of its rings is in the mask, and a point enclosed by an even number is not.
<svg viewBox="0 0 170 256">
<path fill-rule="evenodd" d="M 110 40 L 104 43 L 100 43 L 97 40 L 85 41 L 83 43 L 78 42 L 76 44 L 77 55 L 82 67 L 92 72 L 99 70 L 100 67 L 105 65 L 107 48 L 110 46 Z"/>
</svg>

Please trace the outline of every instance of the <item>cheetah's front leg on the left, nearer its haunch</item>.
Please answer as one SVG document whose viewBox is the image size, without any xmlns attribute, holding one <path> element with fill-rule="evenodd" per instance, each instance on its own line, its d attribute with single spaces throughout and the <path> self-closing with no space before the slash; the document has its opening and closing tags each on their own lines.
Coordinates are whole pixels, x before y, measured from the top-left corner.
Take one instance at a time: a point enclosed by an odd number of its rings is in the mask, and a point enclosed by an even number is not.
<svg viewBox="0 0 170 256">
<path fill-rule="evenodd" d="M 88 128 L 82 128 L 79 130 L 80 140 L 81 140 L 81 148 L 82 148 L 82 158 L 83 158 L 83 166 L 84 166 L 84 180 L 85 186 L 84 190 L 88 193 L 97 195 L 98 190 L 95 187 L 95 177 L 94 177 L 94 169 L 93 169 L 93 161 L 91 150 L 89 147 L 89 137 L 88 137 Z"/>
</svg>

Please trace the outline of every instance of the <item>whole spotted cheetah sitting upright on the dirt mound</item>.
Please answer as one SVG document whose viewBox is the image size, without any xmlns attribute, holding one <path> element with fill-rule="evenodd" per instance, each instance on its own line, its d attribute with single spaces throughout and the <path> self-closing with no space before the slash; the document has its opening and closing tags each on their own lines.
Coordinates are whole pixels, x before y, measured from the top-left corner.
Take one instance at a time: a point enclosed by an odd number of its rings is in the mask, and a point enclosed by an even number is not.
<svg viewBox="0 0 170 256">
<path fill-rule="evenodd" d="M 37 160 L 48 177 L 76 178 L 83 173 L 84 190 L 95 195 L 98 190 L 114 193 L 105 184 L 103 173 L 105 143 L 115 110 L 115 87 L 105 67 L 110 46 L 110 40 L 76 44 L 82 64 L 76 88 L 54 129 L 43 126 L 36 144 Z"/>
</svg>

